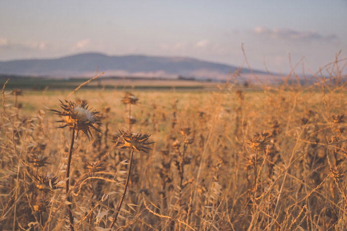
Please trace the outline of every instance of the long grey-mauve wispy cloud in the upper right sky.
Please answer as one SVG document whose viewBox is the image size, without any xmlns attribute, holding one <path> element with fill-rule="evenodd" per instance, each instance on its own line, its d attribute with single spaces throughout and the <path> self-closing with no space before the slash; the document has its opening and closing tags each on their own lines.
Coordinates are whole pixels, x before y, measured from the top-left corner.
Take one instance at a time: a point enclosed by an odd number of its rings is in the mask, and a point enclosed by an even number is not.
<svg viewBox="0 0 347 231">
<path fill-rule="evenodd" d="M 287 39 L 296 41 L 333 41 L 336 35 L 321 35 L 316 31 L 297 31 L 289 28 L 270 29 L 266 27 L 256 27 L 253 32 L 257 35 L 269 36 L 275 39 Z"/>
</svg>

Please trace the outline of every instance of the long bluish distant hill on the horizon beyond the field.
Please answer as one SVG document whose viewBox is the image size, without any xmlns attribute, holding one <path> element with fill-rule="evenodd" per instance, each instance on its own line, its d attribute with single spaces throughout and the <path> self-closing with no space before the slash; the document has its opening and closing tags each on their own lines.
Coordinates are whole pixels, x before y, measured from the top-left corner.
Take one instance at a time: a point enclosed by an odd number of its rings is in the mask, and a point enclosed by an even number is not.
<svg viewBox="0 0 347 231">
<path fill-rule="evenodd" d="M 145 55 L 108 56 L 101 53 L 82 53 L 54 59 L 26 59 L 0 62 L 0 74 L 88 77 L 96 70 L 105 76 L 225 80 L 236 67 L 186 57 L 160 57 Z M 243 69 L 242 74 L 250 70 Z M 266 74 L 255 71 L 257 74 Z"/>
</svg>

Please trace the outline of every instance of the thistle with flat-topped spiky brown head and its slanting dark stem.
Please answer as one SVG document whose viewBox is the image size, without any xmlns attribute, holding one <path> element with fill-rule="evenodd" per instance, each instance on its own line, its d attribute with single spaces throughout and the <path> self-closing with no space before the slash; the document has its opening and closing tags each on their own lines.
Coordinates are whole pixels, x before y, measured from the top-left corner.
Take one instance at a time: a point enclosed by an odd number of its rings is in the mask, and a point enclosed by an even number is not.
<svg viewBox="0 0 347 231">
<path fill-rule="evenodd" d="M 153 143 L 153 142 L 147 142 L 147 140 L 149 139 L 149 137 L 151 135 L 136 134 L 136 133 L 130 133 L 130 132 L 127 133 L 127 132 L 124 132 L 122 130 L 119 130 L 119 132 L 120 132 L 120 135 L 116 135 L 118 140 L 114 141 L 114 142 L 116 143 L 116 146 L 119 148 L 130 149 L 130 164 L 129 164 L 129 170 L 128 170 L 128 174 L 127 174 L 126 182 L 125 182 L 125 186 L 124 186 L 124 192 L 123 192 L 123 195 L 119 201 L 116 213 L 114 215 L 113 222 L 110 225 L 110 229 L 112 229 L 112 227 L 116 223 L 121 205 L 122 205 L 124 197 L 125 197 L 126 189 L 128 187 L 128 184 L 129 184 L 134 150 L 143 151 L 145 153 L 148 153 L 148 150 L 151 150 L 151 148 L 149 148 L 147 146 L 149 144 Z"/>
</svg>

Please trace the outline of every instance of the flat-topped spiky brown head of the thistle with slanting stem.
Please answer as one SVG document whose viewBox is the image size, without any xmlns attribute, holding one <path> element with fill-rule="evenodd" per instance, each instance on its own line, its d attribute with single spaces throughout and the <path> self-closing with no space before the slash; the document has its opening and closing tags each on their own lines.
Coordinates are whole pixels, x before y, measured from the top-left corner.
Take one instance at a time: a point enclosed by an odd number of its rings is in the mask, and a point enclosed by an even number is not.
<svg viewBox="0 0 347 231">
<path fill-rule="evenodd" d="M 130 148 L 136 151 L 143 151 L 148 153 L 148 150 L 151 148 L 147 147 L 153 142 L 147 142 L 148 138 L 151 135 L 138 134 L 138 133 L 129 133 L 119 130 L 120 135 L 116 135 L 118 141 L 116 141 L 117 146 L 120 148 Z"/>
</svg>

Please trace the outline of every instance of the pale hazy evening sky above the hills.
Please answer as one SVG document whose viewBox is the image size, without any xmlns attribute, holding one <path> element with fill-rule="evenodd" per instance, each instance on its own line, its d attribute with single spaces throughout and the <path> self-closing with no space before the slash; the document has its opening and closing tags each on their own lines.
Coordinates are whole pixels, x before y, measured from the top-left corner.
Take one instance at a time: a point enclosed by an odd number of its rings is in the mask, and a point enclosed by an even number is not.
<svg viewBox="0 0 347 231">
<path fill-rule="evenodd" d="M 0 0 L 0 60 L 187 56 L 315 72 L 342 50 L 347 0 Z M 289 58 L 290 57 L 290 58 Z M 290 60 L 290 61 L 289 61 Z"/>
</svg>

